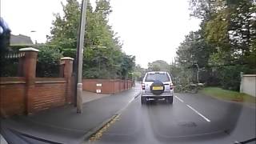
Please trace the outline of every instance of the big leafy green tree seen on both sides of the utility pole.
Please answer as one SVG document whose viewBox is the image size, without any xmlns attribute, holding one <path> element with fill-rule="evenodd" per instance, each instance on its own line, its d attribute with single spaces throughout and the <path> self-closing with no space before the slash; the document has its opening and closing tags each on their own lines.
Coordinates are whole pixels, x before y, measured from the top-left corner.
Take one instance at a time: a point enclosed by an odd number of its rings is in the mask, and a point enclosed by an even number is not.
<svg viewBox="0 0 256 144">
<path fill-rule="evenodd" d="M 55 14 L 48 43 L 58 48 L 63 55 L 74 58 L 80 5 L 77 0 L 67 0 L 67 4 L 62 6 L 64 16 L 62 18 Z M 134 57 L 122 52 L 122 42 L 119 42 L 117 34 L 108 25 L 111 12 L 107 0 L 98 0 L 95 10 L 88 3 L 83 58 L 83 76 L 86 78 L 127 78 L 134 66 Z"/>
</svg>

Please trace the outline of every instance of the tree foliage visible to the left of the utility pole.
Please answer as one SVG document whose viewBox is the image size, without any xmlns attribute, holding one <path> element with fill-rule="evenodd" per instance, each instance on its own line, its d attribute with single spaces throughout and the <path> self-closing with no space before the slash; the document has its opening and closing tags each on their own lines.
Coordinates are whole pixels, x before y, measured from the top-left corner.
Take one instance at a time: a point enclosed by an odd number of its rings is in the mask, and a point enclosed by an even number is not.
<svg viewBox="0 0 256 144">
<path fill-rule="evenodd" d="M 48 44 L 56 47 L 65 56 L 75 58 L 77 47 L 78 26 L 80 16 L 80 5 L 76 0 L 67 0 L 67 4 L 62 3 L 64 16 L 59 13 L 54 14 L 55 20 L 50 28 L 50 35 L 47 36 Z M 87 13 L 92 10 L 90 4 Z"/>
</svg>

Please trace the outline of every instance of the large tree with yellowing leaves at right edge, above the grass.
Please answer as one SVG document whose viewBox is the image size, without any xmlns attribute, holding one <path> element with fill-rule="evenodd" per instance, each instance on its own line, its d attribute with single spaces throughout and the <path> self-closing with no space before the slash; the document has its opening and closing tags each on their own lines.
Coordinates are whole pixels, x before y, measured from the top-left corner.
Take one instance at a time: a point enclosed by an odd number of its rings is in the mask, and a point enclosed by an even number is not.
<svg viewBox="0 0 256 144">
<path fill-rule="evenodd" d="M 206 50 L 210 51 L 208 66 L 202 59 L 198 62 L 205 63 L 200 65 L 208 67 L 210 75 L 214 75 L 214 79 L 219 81 L 218 84 L 224 88 L 238 90 L 240 71 L 256 73 L 256 2 L 190 0 L 190 10 L 191 16 L 202 19 L 200 39 L 209 47 Z M 195 39 L 194 43 L 198 42 L 198 39 Z M 178 58 L 185 59 L 183 62 L 186 65 L 191 61 L 189 56 L 193 46 L 186 42 L 178 48 Z M 195 54 L 194 58 L 198 59 L 202 55 L 199 52 L 200 46 L 196 46 L 196 51 L 198 55 Z"/>
</svg>

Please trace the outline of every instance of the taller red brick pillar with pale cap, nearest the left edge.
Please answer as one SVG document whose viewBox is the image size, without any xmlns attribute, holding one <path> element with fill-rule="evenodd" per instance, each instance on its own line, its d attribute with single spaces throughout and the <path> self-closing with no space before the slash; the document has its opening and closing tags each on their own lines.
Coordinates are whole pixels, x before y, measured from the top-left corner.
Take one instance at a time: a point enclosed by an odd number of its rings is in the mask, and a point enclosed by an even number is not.
<svg viewBox="0 0 256 144">
<path fill-rule="evenodd" d="M 36 76 L 35 74 L 38 60 L 38 51 L 39 50 L 32 47 L 19 49 L 20 53 L 25 53 L 25 56 L 22 58 L 21 63 L 19 64 L 19 74 L 21 74 L 26 79 L 26 114 L 33 113 L 33 90 Z"/>
</svg>

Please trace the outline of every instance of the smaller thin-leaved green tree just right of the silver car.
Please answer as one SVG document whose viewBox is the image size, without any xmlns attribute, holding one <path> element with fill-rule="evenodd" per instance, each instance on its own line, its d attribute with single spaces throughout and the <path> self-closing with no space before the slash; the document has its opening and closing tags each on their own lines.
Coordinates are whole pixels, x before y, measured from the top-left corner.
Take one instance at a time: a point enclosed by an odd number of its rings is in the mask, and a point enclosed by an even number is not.
<svg viewBox="0 0 256 144">
<path fill-rule="evenodd" d="M 181 66 L 182 70 L 187 71 L 190 82 L 198 82 L 198 72 L 200 72 L 199 81 L 207 81 L 206 71 L 208 69 L 210 54 L 213 53 L 213 50 L 213 46 L 210 46 L 205 41 L 202 30 L 190 32 L 190 34 L 186 35 L 181 45 L 178 46 L 178 65 Z M 198 71 L 198 67 L 200 71 Z"/>
</svg>

